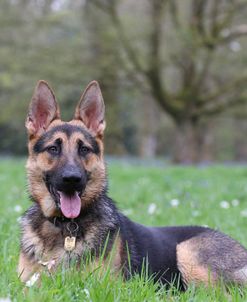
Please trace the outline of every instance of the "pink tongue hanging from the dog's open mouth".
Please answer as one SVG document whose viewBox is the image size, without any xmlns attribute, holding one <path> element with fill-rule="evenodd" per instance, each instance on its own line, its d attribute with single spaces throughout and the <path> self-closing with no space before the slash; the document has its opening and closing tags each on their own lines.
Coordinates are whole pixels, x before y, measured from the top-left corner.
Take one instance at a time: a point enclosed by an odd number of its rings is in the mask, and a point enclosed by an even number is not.
<svg viewBox="0 0 247 302">
<path fill-rule="evenodd" d="M 72 196 L 68 196 L 63 192 L 58 192 L 60 195 L 61 211 L 67 218 L 76 218 L 81 211 L 81 199 L 77 192 Z"/>
</svg>

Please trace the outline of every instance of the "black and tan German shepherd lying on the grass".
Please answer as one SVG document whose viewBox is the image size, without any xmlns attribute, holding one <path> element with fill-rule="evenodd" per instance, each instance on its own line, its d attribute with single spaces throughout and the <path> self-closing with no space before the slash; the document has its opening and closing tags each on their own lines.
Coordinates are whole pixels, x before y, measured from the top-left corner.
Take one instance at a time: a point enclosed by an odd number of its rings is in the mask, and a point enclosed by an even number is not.
<svg viewBox="0 0 247 302">
<path fill-rule="evenodd" d="M 26 120 L 28 186 L 33 205 L 21 220 L 18 272 L 26 282 L 43 265 L 53 269 L 110 254 L 112 268 L 128 279 L 147 263 L 154 281 L 184 290 L 190 283 L 219 280 L 245 284 L 247 250 L 218 231 L 201 226 L 146 227 L 121 214 L 107 196 L 103 157 L 105 106 L 91 82 L 73 120 L 63 122 L 52 89 L 40 81 Z M 104 247 L 107 243 L 106 248 Z"/>
</svg>

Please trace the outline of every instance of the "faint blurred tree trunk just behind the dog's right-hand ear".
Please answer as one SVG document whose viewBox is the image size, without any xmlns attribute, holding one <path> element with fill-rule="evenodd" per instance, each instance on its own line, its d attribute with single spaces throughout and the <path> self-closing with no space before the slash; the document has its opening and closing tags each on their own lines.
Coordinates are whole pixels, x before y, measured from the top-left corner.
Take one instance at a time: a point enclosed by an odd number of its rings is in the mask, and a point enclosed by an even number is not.
<svg viewBox="0 0 247 302">
<path fill-rule="evenodd" d="M 95 10 L 90 1 L 82 12 L 88 30 L 88 46 L 90 49 L 90 66 L 94 66 L 93 78 L 97 79 L 103 91 L 106 110 L 106 152 L 114 150 L 116 154 L 124 154 L 123 125 L 119 104 L 119 52 L 114 47 L 115 32 L 106 15 Z M 120 68 L 121 69 L 121 68 Z"/>
</svg>

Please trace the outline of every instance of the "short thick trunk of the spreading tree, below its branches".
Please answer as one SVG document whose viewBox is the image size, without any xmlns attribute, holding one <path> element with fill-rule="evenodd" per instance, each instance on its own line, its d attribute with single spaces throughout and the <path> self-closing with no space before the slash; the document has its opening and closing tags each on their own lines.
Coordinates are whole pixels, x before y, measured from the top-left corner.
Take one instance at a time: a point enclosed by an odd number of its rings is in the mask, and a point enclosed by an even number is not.
<svg viewBox="0 0 247 302">
<path fill-rule="evenodd" d="M 213 138 L 207 123 L 185 120 L 177 123 L 173 160 L 192 164 L 213 160 Z"/>
</svg>

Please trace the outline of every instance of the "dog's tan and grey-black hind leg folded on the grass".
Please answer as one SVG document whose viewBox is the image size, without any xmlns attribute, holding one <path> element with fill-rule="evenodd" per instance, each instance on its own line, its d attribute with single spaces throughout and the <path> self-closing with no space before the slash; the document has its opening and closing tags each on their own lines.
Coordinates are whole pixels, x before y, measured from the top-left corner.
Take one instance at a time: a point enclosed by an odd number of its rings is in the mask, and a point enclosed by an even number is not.
<svg viewBox="0 0 247 302">
<path fill-rule="evenodd" d="M 178 244 L 177 264 L 185 284 L 247 284 L 247 250 L 217 231 L 208 229 Z"/>
</svg>

